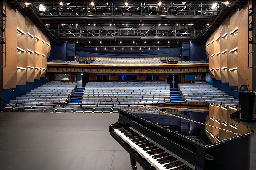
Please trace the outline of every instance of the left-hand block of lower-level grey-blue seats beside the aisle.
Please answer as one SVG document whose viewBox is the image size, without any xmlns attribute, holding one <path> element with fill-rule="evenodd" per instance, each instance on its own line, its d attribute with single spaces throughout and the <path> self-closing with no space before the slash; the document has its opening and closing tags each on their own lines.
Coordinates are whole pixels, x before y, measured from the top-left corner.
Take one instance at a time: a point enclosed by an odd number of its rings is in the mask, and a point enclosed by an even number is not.
<svg viewBox="0 0 256 170">
<path fill-rule="evenodd" d="M 76 88 L 75 83 L 48 82 L 26 94 L 10 100 L 9 103 L 15 108 L 29 109 L 37 105 L 58 105 L 66 104 Z M 12 106 L 7 105 L 5 109 Z"/>
</svg>

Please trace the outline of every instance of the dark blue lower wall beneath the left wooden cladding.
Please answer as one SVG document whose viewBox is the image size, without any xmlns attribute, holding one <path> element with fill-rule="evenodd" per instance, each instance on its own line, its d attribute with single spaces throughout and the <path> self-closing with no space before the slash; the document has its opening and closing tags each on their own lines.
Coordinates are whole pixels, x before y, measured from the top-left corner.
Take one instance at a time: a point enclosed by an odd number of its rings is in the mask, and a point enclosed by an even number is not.
<svg viewBox="0 0 256 170">
<path fill-rule="evenodd" d="M 20 97 L 22 94 L 26 94 L 30 92 L 30 90 L 34 90 L 35 88 L 49 82 L 51 80 L 51 75 L 46 73 L 45 78 L 40 78 L 39 80 L 34 80 L 34 82 L 27 82 L 26 85 L 16 85 L 16 88 L 12 89 L 3 89 L 3 99 L 7 102 L 10 100 L 15 100 L 16 97 Z M 5 107 L 3 102 L 3 107 Z"/>
</svg>

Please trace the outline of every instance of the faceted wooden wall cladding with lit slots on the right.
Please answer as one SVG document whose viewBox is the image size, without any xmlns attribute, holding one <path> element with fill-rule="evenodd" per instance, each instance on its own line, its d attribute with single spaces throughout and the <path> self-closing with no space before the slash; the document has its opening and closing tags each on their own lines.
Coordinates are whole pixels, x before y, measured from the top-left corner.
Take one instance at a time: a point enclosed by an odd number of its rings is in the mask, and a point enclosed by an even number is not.
<svg viewBox="0 0 256 170">
<path fill-rule="evenodd" d="M 230 86 L 238 86 L 248 78 L 251 88 L 252 70 L 247 68 L 247 45 L 248 5 L 228 17 L 208 38 L 206 55 L 211 77 L 228 82 Z M 237 52 L 230 52 L 234 48 L 237 48 Z M 237 71 L 230 70 L 236 67 Z"/>
</svg>

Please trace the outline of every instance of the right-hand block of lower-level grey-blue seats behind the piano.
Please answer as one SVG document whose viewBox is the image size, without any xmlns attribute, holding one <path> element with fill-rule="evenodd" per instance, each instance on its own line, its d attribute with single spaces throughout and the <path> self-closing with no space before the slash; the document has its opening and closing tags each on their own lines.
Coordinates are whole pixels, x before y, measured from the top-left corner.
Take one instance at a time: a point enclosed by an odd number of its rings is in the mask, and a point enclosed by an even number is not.
<svg viewBox="0 0 256 170">
<path fill-rule="evenodd" d="M 238 105 L 238 99 L 206 82 L 179 83 L 179 90 L 185 102 L 208 102 Z"/>
</svg>

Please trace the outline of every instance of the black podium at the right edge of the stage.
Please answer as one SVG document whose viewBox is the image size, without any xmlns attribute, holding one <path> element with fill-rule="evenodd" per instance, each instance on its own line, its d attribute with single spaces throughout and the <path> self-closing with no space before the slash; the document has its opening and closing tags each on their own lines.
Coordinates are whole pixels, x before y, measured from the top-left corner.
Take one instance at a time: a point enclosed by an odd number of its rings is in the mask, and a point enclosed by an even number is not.
<svg viewBox="0 0 256 170">
<path fill-rule="evenodd" d="M 238 92 L 238 100 L 241 105 L 241 121 L 252 121 L 252 111 L 254 106 L 254 95 L 252 92 L 242 90 L 232 90 Z"/>
</svg>

